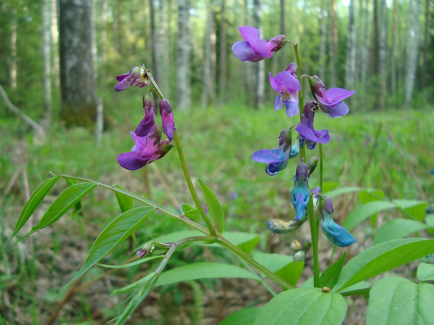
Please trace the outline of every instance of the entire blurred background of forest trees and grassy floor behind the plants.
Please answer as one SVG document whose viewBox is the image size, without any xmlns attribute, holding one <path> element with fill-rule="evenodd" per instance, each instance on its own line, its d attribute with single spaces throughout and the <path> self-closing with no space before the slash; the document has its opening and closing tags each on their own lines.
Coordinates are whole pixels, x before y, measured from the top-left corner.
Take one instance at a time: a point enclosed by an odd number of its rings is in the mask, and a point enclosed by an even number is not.
<svg viewBox="0 0 434 325">
<path fill-rule="evenodd" d="M 380 189 L 376 195 L 386 199 L 434 201 L 433 0 L 0 0 L 0 246 L 49 172 L 118 184 L 177 213 L 181 203 L 194 203 L 175 150 L 135 172 L 116 162 L 132 147 L 128 131 L 143 118 L 141 96 L 149 88 L 116 93 L 115 76 L 144 64 L 171 102 L 194 184 L 202 179 L 223 205 L 225 229 L 258 234 L 261 251 L 290 254 L 289 243 L 309 236 L 309 225 L 272 237 L 266 220 L 293 217 L 298 159 L 270 178 L 251 154 L 277 147 L 279 131 L 296 123 L 273 111 L 276 92 L 268 81 L 268 71 L 276 75 L 295 58 L 286 44 L 270 59 L 240 62 L 231 51 L 241 40 L 240 25 L 257 27 L 264 39 L 284 34 L 299 43 L 302 73 L 318 75 L 326 88 L 357 91 L 345 100 L 350 114 L 315 119 L 332 137 L 324 146 L 325 191 L 357 185 Z M 307 84 L 304 89 L 307 94 Z M 318 156 L 317 150 L 309 155 Z M 315 172 L 309 183 L 318 182 Z M 22 234 L 64 188 L 56 183 Z M 360 202 L 357 195 L 334 198 L 335 221 Z M 113 288 L 152 265 L 115 273 L 92 267 L 79 292 L 53 302 L 120 214 L 115 195 L 102 188 L 82 207 L 73 220 L 64 216 L 3 250 L 0 324 L 105 324 L 122 312 L 125 297 L 110 296 Z M 380 212 L 377 227 L 399 214 Z M 143 244 L 184 229 L 155 213 L 136 235 Z M 355 228 L 347 257 L 370 247 L 375 232 L 369 221 Z M 321 240 L 323 270 L 332 248 Z M 102 263 L 123 263 L 138 249 L 125 241 Z M 303 281 L 312 275 L 310 259 Z M 168 268 L 216 260 L 238 263 L 218 248 L 197 246 L 177 252 Z M 398 272 L 411 277 L 413 270 Z M 128 324 L 214 325 L 268 301 L 261 288 L 215 279 L 157 288 Z M 365 300 L 349 305 L 344 324 L 364 324 Z"/>
</svg>

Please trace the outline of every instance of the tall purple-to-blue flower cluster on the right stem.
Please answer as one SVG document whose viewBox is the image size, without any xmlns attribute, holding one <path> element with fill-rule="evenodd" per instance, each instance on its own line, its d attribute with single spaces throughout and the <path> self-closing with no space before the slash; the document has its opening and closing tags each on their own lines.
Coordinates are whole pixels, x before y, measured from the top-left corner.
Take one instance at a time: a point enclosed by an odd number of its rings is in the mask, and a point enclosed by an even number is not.
<svg viewBox="0 0 434 325">
<path fill-rule="evenodd" d="M 234 54 L 241 61 L 258 62 L 264 58 L 270 58 L 275 52 L 281 49 L 287 42 L 285 36 L 279 35 L 268 42 L 261 39 L 257 29 L 250 26 L 240 26 L 240 34 L 244 41 L 236 42 L 232 46 Z M 293 43 L 293 42 L 291 42 Z M 294 44 L 294 43 L 293 43 Z M 322 111 L 331 118 L 341 117 L 349 112 L 348 106 L 342 101 L 348 98 L 355 91 L 348 91 L 343 88 L 325 89 L 324 84 L 318 76 L 302 75 L 297 78 L 296 63 L 289 63 L 285 71 L 279 72 L 275 77 L 270 72 L 270 85 L 276 91 L 274 110 L 286 108 L 286 115 L 289 117 L 300 117 L 299 122 L 288 129 L 280 132 L 279 147 L 276 149 L 261 149 L 255 151 L 252 159 L 257 162 L 265 162 L 265 172 L 270 175 L 277 175 L 288 166 L 288 160 L 299 154 L 300 148 L 314 149 L 316 143 L 328 143 L 330 141 L 329 130 L 317 130 L 314 127 L 315 114 Z M 300 80 L 307 78 L 313 100 L 303 98 Z M 300 103 L 301 98 L 302 104 Z M 300 112 L 300 108 L 302 111 Z M 291 130 L 295 127 L 298 132 L 298 143 L 292 145 Z M 344 228 L 335 224 L 332 218 L 332 202 L 329 197 L 322 196 L 319 188 L 309 190 L 309 176 L 312 174 L 318 163 L 316 157 L 312 157 L 306 165 L 303 158 L 296 168 L 294 175 L 294 187 L 291 191 L 291 202 L 296 211 L 296 216 L 289 222 L 280 219 L 267 221 L 270 231 L 278 234 L 286 234 L 300 227 L 308 218 L 307 205 L 313 199 L 314 210 L 319 201 L 319 218 L 322 220 L 322 231 L 325 236 L 337 246 L 345 247 L 354 243 L 355 239 Z M 305 255 L 306 253 L 304 253 Z M 300 253 L 300 259 L 304 259 Z"/>
</svg>

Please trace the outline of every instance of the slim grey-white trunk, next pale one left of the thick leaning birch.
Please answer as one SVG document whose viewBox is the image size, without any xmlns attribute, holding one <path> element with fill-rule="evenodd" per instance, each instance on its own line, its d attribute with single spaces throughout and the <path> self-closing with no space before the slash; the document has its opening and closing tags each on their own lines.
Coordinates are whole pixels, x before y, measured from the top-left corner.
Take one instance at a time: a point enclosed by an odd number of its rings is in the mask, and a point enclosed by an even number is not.
<svg viewBox="0 0 434 325">
<path fill-rule="evenodd" d="M 380 2 L 380 20 L 379 20 L 379 35 L 378 35 L 378 75 L 380 77 L 380 109 L 384 109 L 386 101 L 386 83 L 387 83 L 387 13 L 386 0 Z"/>
</svg>

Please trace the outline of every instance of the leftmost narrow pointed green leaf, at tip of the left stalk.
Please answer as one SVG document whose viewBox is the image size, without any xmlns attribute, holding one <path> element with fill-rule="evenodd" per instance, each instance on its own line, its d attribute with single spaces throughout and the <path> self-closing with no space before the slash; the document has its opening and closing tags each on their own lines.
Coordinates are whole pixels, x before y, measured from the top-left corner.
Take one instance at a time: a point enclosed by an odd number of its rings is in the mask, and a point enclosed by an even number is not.
<svg viewBox="0 0 434 325">
<path fill-rule="evenodd" d="M 55 177 L 52 177 L 50 179 L 47 179 L 43 181 L 30 195 L 29 201 L 26 202 L 26 204 L 23 207 L 23 210 L 20 213 L 20 216 L 18 217 L 18 220 L 16 221 L 15 227 L 13 228 L 13 232 L 10 235 L 10 238 L 7 240 L 6 244 L 3 245 L 0 252 L 3 250 L 4 247 L 10 242 L 10 240 L 15 237 L 15 235 L 20 231 L 20 229 L 24 226 L 27 220 L 29 220 L 30 216 L 33 214 L 33 212 L 36 210 L 36 208 L 39 206 L 39 204 L 42 202 L 42 200 L 45 198 L 49 190 L 53 187 L 54 183 L 57 182 L 57 180 L 60 178 L 60 175 L 57 175 Z"/>
</svg>

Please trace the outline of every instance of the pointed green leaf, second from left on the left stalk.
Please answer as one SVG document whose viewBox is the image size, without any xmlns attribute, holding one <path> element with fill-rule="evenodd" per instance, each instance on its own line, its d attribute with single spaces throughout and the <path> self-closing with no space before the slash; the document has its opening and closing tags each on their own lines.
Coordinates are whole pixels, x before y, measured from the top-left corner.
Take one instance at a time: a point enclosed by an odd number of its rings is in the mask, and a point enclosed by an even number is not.
<svg viewBox="0 0 434 325">
<path fill-rule="evenodd" d="M 95 186 L 96 184 L 85 182 L 74 184 L 66 188 L 66 190 L 60 193 L 59 197 L 54 200 L 52 205 L 50 205 L 46 213 L 43 215 L 41 221 L 39 221 L 36 226 L 33 226 L 32 230 L 28 234 L 25 234 L 23 237 L 17 240 L 17 242 L 29 236 L 30 234 L 33 234 L 35 231 L 43 229 L 59 220 L 63 214 L 76 205 L 76 203 L 80 201 L 87 193 L 92 191 Z"/>
</svg>

